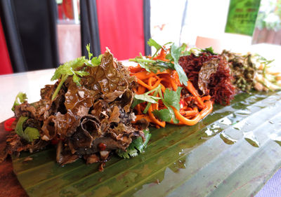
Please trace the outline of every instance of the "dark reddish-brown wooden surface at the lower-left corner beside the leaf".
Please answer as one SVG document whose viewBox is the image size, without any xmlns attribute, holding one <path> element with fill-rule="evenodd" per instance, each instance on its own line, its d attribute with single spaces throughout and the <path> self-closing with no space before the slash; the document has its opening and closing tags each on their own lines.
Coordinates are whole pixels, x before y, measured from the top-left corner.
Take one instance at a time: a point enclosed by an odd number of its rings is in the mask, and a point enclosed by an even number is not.
<svg viewBox="0 0 281 197">
<path fill-rule="evenodd" d="M 6 145 L 6 135 L 8 135 L 8 131 L 4 129 L 4 123 L 0 123 L 0 151 Z M 4 162 L 0 163 L 0 196 L 27 196 L 27 193 L 22 189 L 20 182 L 18 182 L 17 177 L 13 173 L 10 156 Z"/>
</svg>

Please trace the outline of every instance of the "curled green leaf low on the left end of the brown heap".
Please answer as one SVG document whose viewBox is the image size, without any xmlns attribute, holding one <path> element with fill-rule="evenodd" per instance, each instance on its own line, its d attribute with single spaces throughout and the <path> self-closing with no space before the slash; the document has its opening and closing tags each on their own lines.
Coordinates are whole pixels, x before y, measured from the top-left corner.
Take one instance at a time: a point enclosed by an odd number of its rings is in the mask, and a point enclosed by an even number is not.
<svg viewBox="0 0 281 197">
<path fill-rule="evenodd" d="M 22 125 L 27 121 L 28 117 L 20 116 L 18 119 L 18 123 L 15 126 L 15 133 L 20 135 L 23 139 L 27 140 L 28 142 L 33 142 L 35 139 L 39 139 L 40 134 L 37 128 L 27 127 L 23 130 Z"/>
</svg>

